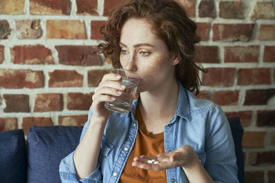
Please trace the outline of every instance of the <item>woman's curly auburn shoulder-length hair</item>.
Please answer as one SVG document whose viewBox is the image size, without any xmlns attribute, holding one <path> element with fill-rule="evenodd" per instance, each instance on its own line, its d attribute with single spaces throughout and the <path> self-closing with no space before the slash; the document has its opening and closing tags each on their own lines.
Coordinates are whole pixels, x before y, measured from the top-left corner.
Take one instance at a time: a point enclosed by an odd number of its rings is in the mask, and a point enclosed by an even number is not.
<svg viewBox="0 0 275 183">
<path fill-rule="evenodd" d="M 151 23 L 154 33 L 179 58 L 179 64 L 175 67 L 177 80 L 197 95 L 201 85 L 197 71 L 204 71 L 194 61 L 195 43 L 200 39 L 195 34 L 197 25 L 188 18 L 184 9 L 173 0 L 125 0 L 115 7 L 107 25 L 100 29 L 105 42 L 98 45 L 98 52 L 103 53 L 116 68 L 121 67 L 120 32 L 130 18 L 146 19 Z"/>
</svg>

